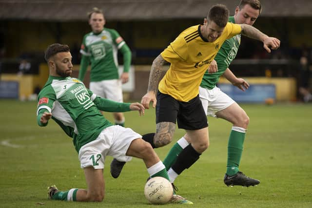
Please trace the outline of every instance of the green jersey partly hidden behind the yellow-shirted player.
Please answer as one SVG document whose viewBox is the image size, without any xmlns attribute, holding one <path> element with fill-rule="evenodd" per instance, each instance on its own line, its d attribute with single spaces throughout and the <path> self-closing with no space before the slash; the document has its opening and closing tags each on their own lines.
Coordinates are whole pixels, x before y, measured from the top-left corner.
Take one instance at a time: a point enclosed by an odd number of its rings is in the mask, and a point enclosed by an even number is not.
<svg viewBox="0 0 312 208">
<path fill-rule="evenodd" d="M 229 18 L 229 22 L 235 23 L 234 17 Z M 221 46 L 219 52 L 215 56 L 215 61 L 218 65 L 218 71 L 214 74 L 208 74 L 206 71 L 200 86 L 209 90 L 213 89 L 219 78 L 225 70 L 229 67 L 233 59 L 236 57 L 239 45 L 240 45 L 240 34 L 233 38 L 227 39 Z"/>
</svg>

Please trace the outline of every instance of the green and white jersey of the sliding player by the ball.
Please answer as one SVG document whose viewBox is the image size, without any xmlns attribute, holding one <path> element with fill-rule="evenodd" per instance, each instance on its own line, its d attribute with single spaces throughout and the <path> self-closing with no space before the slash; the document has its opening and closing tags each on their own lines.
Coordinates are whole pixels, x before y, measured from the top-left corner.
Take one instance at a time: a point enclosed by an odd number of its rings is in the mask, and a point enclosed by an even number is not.
<svg viewBox="0 0 312 208">
<path fill-rule="evenodd" d="M 76 151 L 95 140 L 104 128 L 113 125 L 99 110 L 130 111 L 130 104 L 97 97 L 80 80 L 72 77 L 50 76 L 38 95 L 38 101 L 37 120 L 44 111 L 52 113 L 52 119 L 73 138 Z"/>
</svg>

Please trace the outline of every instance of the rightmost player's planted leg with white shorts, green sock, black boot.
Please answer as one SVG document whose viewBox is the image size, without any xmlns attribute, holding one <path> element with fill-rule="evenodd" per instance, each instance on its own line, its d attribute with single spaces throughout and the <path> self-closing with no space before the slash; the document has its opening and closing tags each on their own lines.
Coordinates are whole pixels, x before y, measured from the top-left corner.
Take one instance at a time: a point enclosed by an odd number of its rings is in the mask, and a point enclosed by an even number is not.
<svg viewBox="0 0 312 208">
<path fill-rule="evenodd" d="M 245 134 L 249 124 L 247 113 L 223 92 L 220 92 L 218 99 L 209 108 L 216 112 L 217 117 L 223 118 L 233 124 L 228 141 L 227 171 L 224 182 L 226 185 L 242 186 L 259 184 L 260 182 L 258 180 L 249 178 L 239 171 Z"/>
</svg>

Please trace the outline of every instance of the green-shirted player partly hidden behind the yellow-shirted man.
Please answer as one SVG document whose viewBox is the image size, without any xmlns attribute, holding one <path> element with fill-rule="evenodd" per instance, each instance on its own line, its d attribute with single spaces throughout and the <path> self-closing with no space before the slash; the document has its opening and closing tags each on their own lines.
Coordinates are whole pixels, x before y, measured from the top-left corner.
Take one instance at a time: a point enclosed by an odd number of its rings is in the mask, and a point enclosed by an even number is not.
<svg viewBox="0 0 312 208">
<path fill-rule="evenodd" d="M 253 25 L 261 13 L 261 4 L 259 0 L 241 0 L 235 8 L 234 17 L 229 18 L 229 22 L 236 24 Z M 211 67 L 203 76 L 199 87 L 199 97 L 202 102 L 206 115 L 223 118 L 233 124 L 228 142 L 228 161 L 224 183 L 227 186 L 254 186 L 260 183 L 259 180 L 250 178 L 239 171 L 239 163 L 243 151 L 243 144 L 249 117 L 246 112 L 228 95 L 223 93 L 216 83 L 220 76 L 224 76 L 234 86 L 242 91 L 248 89 L 249 84 L 242 78 L 237 78 L 228 68 L 237 54 L 240 45 L 240 35 L 227 39 L 221 46 L 215 57 L 215 65 Z M 269 52 L 270 49 L 266 48 Z M 169 177 L 172 181 L 177 177 L 172 164 L 179 154 L 190 143 L 190 136 L 185 134 L 173 146 L 164 160 Z"/>
</svg>

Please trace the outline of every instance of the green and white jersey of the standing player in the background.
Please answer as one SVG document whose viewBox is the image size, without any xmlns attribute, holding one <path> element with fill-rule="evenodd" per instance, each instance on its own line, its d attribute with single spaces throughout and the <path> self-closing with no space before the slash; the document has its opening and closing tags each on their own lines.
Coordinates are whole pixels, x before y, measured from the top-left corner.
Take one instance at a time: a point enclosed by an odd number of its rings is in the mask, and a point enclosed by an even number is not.
<svg viewBox="0 0 312 208">
<path fill-rule="evenodd" d="M 91 32 L 83 37 L 80 53 L 91 62 L 90 81 L 119 78 L 117 52 L 124 44 L 114 29 L 104 28 L 98 34 Z"/>
</svg>

